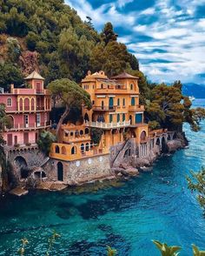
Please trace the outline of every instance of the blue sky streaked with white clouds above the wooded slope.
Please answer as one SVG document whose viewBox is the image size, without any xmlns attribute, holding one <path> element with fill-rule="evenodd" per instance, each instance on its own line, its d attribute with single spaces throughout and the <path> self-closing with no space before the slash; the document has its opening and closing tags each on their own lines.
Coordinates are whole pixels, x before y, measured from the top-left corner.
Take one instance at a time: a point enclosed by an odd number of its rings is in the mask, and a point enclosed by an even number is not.
<svg viewBox="0 0 205 256">
<path fill-rule="evenodd" d="M 96 30 L 111 22 L 118 41 L 152 82 L 205 84 L 205 0 L 65 0 Z"/>
</svg>

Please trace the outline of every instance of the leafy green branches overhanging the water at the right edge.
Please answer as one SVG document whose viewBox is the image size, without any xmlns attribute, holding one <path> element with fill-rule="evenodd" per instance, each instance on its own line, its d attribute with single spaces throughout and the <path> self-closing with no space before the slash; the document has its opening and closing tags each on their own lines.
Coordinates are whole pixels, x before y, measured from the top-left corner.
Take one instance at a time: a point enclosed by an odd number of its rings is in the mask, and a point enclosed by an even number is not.
<svg viewBox="0 0 205 256">
<path fill-rule="evenodd" d="M 197 193 L 199 204 L 205 213 L 205 168 L 202 167 L 201 172 L 191 171 L 191 176 L 187 177 L 188 188 Z"/>
</svg>

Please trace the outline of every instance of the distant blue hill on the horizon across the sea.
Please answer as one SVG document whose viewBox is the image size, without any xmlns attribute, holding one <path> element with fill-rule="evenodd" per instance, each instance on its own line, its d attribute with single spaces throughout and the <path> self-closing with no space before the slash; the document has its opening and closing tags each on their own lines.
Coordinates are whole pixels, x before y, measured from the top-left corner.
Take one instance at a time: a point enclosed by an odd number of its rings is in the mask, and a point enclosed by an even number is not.
<svg viewBox="0 0 205 256">
<path fill-rule="evenodd" d="M 183 95 L 205 98 L 205 84 L 187 83 L 182 87 Z"/>
</svg>

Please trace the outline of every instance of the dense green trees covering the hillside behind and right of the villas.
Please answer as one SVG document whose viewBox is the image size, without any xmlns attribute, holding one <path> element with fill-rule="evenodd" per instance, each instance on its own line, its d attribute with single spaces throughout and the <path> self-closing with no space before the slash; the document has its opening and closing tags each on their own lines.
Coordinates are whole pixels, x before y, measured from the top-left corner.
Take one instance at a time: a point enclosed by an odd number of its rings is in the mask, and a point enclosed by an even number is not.
<svg viewBox="0 0 205 256">
<path fill-rule="evenodd" d="M 46 85 L 62 78 L 79 83 L 89 70 L 109 77 L 128 71 L 140 77 L 140 103 L 151 129 L 182 131 L 188 122 L 198 131 L 205 116 L 202 109 L 190 109 L 180 82 L 150 84 L 136 57 L 117 42 L 112 24 L 98 33 L 90 17 L 83 22 L 63 0 L 0 0 L 0 87 L 20 86 L 33 70 L 40 71 Z"/>
</svg>

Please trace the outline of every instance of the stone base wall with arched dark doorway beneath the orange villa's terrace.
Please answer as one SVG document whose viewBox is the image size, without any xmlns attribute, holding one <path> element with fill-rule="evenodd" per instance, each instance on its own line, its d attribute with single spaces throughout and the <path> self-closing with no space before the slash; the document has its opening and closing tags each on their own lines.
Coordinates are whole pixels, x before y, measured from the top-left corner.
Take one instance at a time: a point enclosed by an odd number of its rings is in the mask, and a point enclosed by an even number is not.
<svg viewBox="0 0 205 256">
<path fill-rule="evenodd" d="M 59 180 L 57 177 L 59 163 L 63 164 L 63 183 L 68 185 L 83 184 L 113 175 L 109 165 L 109 154 L 71 162 L 50 158 L 48 164 L 43 166 L 43 170 L 48 175 L 48 180 Z"/>
</svg>

